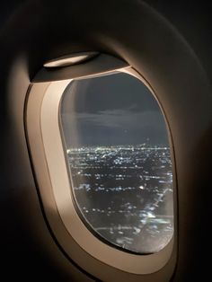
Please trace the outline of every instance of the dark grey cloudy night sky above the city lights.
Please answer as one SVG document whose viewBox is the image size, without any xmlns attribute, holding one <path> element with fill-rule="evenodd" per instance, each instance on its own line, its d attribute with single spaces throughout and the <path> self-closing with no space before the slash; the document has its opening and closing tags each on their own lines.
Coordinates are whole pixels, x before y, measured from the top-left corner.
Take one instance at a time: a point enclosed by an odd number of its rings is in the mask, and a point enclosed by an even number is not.
<svg viewBox="0 0 212 282">
<path fill-rule="evenodd" d="M 61 101 L 66 146 L 167 145 L 163 114 L 137 78 L 118 73 L 75 80 Z"/>
</svg>

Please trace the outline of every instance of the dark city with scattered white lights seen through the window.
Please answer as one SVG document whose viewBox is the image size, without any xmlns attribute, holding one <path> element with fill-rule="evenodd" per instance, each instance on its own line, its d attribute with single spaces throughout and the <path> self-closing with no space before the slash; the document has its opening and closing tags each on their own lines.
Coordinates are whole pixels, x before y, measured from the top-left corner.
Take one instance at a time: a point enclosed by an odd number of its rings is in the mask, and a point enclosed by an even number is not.
<svg viewBox="0 0 212 282">
<path fill-rule="evenodd" d="M 170 148 L 93 145 L 66 153 L 84 224 L 125 250 L 162 250 L 173 234 Z"/>
</svg>

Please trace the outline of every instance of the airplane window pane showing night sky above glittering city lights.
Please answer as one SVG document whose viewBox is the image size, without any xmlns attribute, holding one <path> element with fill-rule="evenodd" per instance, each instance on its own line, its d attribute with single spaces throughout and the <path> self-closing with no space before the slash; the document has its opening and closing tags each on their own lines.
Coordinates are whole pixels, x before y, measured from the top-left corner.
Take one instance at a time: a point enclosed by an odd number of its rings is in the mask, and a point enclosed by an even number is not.
<svg viewBox="0 0 212 282">
<path fill-rule="evenodd" d="M 76 79 L 60 103 L 73 200 L 103 242 L 137 254 L 172 239 L 172 161 L 153 93 L 117 72 Z"/>
</svg>

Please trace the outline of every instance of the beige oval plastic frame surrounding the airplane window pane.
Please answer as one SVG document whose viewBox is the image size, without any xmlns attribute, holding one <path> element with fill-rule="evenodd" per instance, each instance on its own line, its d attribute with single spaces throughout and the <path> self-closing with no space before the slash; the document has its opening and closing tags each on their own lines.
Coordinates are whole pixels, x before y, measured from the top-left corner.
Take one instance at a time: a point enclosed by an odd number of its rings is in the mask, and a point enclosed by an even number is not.
<svg viewBox="0 0 212 282">
<path fill-rule="evenodd" d="M 108 62 L 108 64 L 105 64 L 104 66 L 102 62 L 105 61 Z M 66 85 L 69 84 L 72 79 L 85 76 L 88 78 L 93 75 L 107 75 L 114 71 L 121 71 L 128 73 L 128 75 L 136 76 L 146 84 L 146 87 L 149 88 L 152 93 L 154 92 L 141 75 L 139 75 L 131 66 L 121 62 L 119 59 L 108 55 L 101 55 L 93 59 L 92 62 L 90 61 L 87 63 L 87 65 L 88 66 L 82 64 L 76 66 L 76 71 L 75 69 L 73 71 L 75 66 L 72 66 L 71 72 L 68 72 L 70 67 L 66 67 L 65 70 L 56 70 L 56 72 L 53 73 L 48 73 L 42 69 L 41 74 L 39 73 L 35 76 L 34 82 L 29 89 L 25 107 L 26 132 L 31 150 L 31 160 L 34 164 L 35 175 L 38 181 L 40 198 L 45 215 L 47 216 L 49 226 L 52 229 L 57 242 L 61 245 L 62 249 L 66 251 L 67 256 L 72 260 L 75 260 L 83 269 L 86 269 L 87 265 L 84 264 L 84 261 L 72 250 L 73 246 L 70 245 L 70 242 L 73 242 L 73 240 L 80 249 L 84 250 L 94 260 L 106 264 L 111 268 L 137 275 L 155 273 L 156 271 L 163 269 L 170 259 L 172 259 L 172 261 L 176 260 L 177 202 L 175 165 L 170 130 L 168 130 L 168 137 L 172 157 L 174 205 L 174 233 L 172 240 L 162 251 L 148 255 L 132 254 L 110 247 L 110 245 L 97 239 L 85 227 L 75 210 L 70 195 L 69 173 L 67 172 L 64 146 L 59 129 L 59 101 Z M 79 73 L 81 73 L 81 75 L 79 75 Z M 70 79 L 67 79 L 67 77 Z M 157 100 L 156 96 L 155 99 Z M 161 108 L 160 102 L 158 102 L 158 104 Z M 162 108 L 161 110 L 167 128 L 169 128 L 164 111 Z M 55 152 L 57 152 L 57 154 L 55 154 Z M 60 163 L 59 166 L 57 165 L 58 163 Z M 59 167 L 59 170 L 57 167 Z M 44 170 L 46 170 L 47 173 L 44 173 Z M 60 180 L 64 181 L 63 185 L 61 185 Z M 47 186 L 48 189 L 45 186 Z M 66 190 L 66 195 L 64 193 L 61 194 L 61 186 L 63 186 L 63 188 L 66 187 L 66 189 L 63 189 L 63 191 Z M 75 225 L 76 222 L 77 224 Z"/>
</svg>

